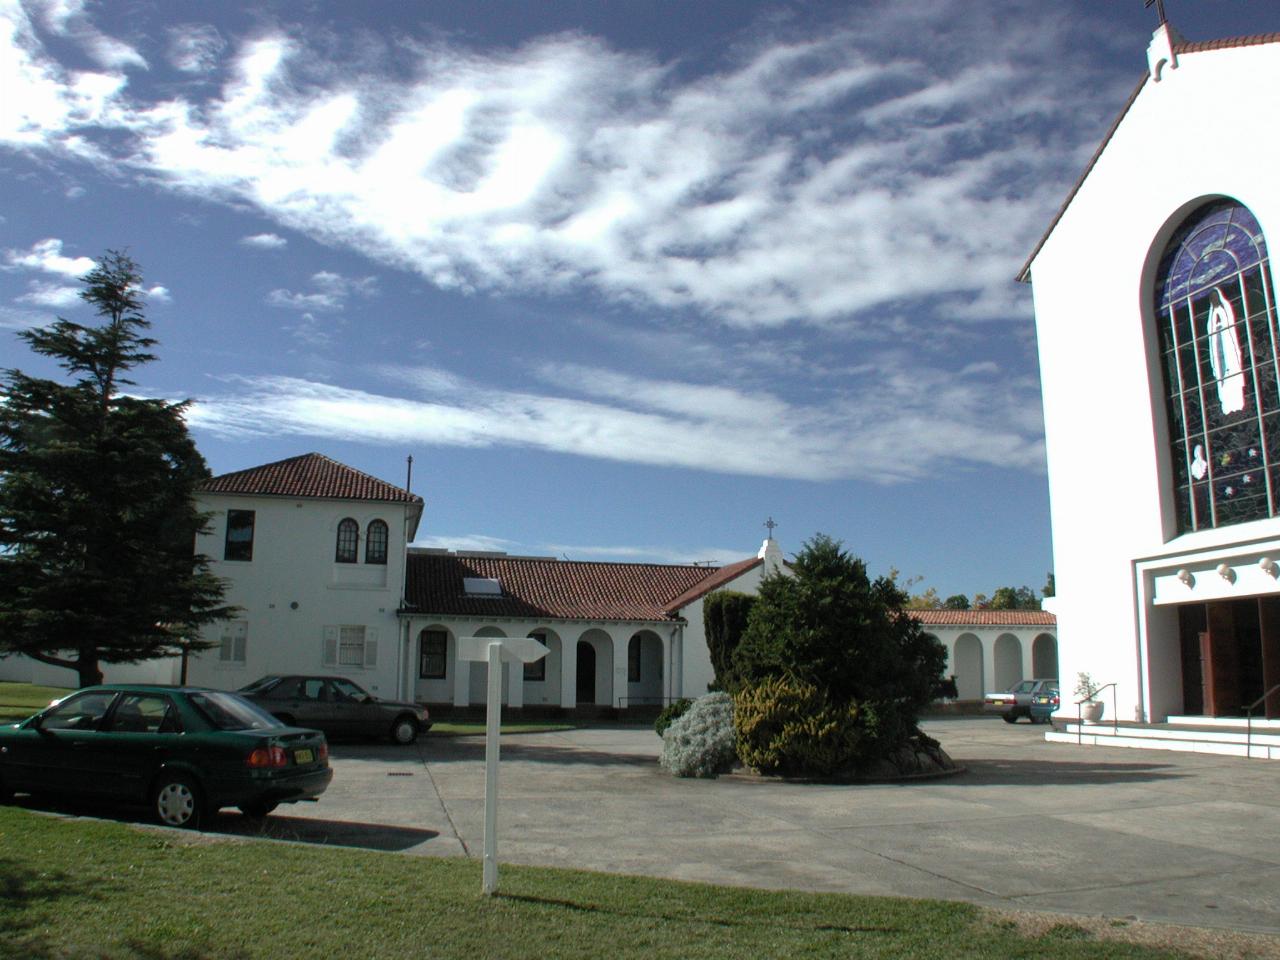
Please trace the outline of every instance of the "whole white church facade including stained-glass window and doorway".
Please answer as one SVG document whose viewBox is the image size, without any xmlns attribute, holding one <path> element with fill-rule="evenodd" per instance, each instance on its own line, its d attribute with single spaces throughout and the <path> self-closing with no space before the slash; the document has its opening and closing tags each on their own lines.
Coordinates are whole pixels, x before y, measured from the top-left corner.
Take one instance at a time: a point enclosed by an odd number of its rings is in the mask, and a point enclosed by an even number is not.
<svg viewBox="0 0 1280 960">
<path fill-rule="evenodd" d="M 1280 35 L 1188 44 L 1162 24 L 1020 274 L 1064 713 L 1085 672 L 1121 721 L 1280 717 L 1277 93 Z"/>
</svg>

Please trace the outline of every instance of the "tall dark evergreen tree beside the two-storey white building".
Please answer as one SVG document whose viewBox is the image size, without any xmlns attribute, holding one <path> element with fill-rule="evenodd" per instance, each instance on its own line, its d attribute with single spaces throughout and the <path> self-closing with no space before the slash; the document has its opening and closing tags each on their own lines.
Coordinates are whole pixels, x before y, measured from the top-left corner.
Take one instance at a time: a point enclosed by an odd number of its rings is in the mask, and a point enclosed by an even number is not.
<svg viewBox="0 0 1280 960">
<path fill-rule="evenodd" d="M 187 403 L 133 397 L 155 360 L 137 265 L 109 251 L 81 282 L 97 326 L 58 319 L 18 335 L 70 383 L 0 372 L 0 653 L 77 671 L 210 646 L 201 625 L 233 613 L 195 556 L 192 495 L 209 476 Z"/>
</svg>

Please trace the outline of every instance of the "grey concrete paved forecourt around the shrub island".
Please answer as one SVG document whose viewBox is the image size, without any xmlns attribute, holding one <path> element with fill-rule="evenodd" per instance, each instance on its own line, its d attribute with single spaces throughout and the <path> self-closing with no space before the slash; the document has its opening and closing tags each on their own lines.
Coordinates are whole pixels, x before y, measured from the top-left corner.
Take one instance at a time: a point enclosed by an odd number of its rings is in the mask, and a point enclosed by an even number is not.
<svg viewBox="0 0 1280 960">
<path fill-rule="evenodd" d="M 946 780 L 677 780 L 646 727 L 503 737 L 499 860 L 1280 933 L 1280 764 L 929 721 Z M 338 744 L 317 804 L 214 829 L 479 858 L 483 737 Z"/>
</svg>

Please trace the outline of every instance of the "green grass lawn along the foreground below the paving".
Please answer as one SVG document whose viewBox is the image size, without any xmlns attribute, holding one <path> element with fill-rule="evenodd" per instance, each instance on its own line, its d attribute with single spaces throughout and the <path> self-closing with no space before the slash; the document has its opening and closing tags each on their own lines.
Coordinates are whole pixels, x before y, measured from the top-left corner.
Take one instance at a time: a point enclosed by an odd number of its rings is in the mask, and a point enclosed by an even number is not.
<svg viewBox="0 0 1280 960">
<path fill-rule="evenodd" d="M 212 840 L 0 808 L 0 956 L 1184 957 L 1039 937 L 966 904 L 768 892 L 476 860 Z"/>
</svg>

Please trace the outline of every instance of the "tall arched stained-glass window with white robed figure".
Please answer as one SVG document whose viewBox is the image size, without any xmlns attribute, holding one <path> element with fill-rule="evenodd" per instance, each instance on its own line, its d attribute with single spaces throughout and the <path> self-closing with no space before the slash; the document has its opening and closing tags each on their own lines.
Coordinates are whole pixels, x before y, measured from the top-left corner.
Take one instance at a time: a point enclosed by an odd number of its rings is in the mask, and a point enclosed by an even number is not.
<svg viewBox="0 0 1280 960">
<path fill-rule="evenodd" d="M 1233 200 L 1196 210 L 1155 289 L 1178 530 L 1276 516 L 1280 378 L 1262 228 Z"/>
</svg>

